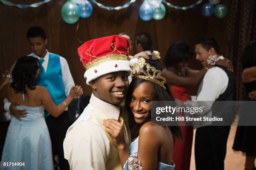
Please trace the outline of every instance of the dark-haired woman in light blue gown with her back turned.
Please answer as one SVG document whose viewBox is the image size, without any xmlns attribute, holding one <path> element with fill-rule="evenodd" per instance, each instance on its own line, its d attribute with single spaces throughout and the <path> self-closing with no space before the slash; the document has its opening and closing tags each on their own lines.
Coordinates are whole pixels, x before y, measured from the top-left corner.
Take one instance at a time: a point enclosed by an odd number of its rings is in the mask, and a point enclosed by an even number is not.
<svg viewBox="0 0 256 170">
<path fill-rule="evenodd" d="M 6 77 L 0 92 L 5 93 L 12 103 L 19 103 L 18 109 L 27 110 L 21 121 L 14 116 L 5 138 L 3 162 L 25 163 L 23 166 L 9 166 L 6 170 L 53 170 L 51 140 L 44 118 L 44 110 L 58 117 L 75 97 L 70 95 L 58 106 L 51 99 L 45 87 L 37 86 L 33 80 L 38 76 L 39 62 L 35 57 L 20 57 L 15 63 L 12 82 Z M 5 168 L 3 168 L 5 169 Z"/>
</svg>

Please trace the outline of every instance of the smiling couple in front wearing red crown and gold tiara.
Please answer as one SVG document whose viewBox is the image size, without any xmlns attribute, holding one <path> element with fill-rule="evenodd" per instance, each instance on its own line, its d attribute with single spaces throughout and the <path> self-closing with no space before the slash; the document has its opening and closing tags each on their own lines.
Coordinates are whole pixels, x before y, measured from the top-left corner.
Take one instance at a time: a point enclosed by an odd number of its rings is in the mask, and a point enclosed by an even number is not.
<svg viewBox="0 0 256 170">
<path fill-rule="evenodd" d="M 151 126 L 152 101 L 174 99 L 164 77 L 155 76 L 157 70 L 143 58 L 131 69 L 129 46 L 125 37 L 113 35 L 90 40 L 78 48 L 92 96 L 64 140 L 64 156 L 71 170 L 175 167 L 172 150 L 174 139 L 181 136 L 180 128 Z M 128 76 L 133 70 L 136 72 L 129 85 Z M 129 122 L 135 122 L 131 133 L 119 107 L 124 99 L 124 109 L 133 115 Z"/>
</svg>

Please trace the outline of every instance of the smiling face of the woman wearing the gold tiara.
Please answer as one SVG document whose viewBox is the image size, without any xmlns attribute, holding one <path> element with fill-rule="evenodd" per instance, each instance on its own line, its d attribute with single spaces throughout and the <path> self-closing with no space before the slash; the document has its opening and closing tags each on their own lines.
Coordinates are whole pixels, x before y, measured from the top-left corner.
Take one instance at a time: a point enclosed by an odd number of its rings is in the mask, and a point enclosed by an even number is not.
<svg viewBox="0 0 256 170">
<path fill-rule="evenodd" d="M 142 82 L 132 93 L 129 107 L 136 123 L 143 123 L 150 119 L 151 102 L 155 98 L 155 89 L 151 82 Z"/>
</svg>

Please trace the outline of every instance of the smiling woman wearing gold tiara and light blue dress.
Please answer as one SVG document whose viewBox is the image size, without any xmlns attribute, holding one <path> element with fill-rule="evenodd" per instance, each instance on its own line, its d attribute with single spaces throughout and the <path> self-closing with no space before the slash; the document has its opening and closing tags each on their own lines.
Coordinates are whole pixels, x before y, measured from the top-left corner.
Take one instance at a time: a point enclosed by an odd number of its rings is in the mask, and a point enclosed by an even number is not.
<svg viewBox="0 0 256 170">
<path fill-rule="evenodd" d="M 150 120 L 152 101 L 174 99 L 168 91 L 169 88 L 164 84 L 164 77 L 156 77 L 160 75 L 159 70 L 155 71 L 154 67 L 146 64 L 143 58 L 140 58 L 133 68 L 136 68 L 137 72 L 133 74 L 125 100 L 125 107 L 129 114 L 133 115 L 136 123 L 131 130 L 134 140 L 130 147 L 124 140 L 122 123 L 108 119 L 102 120 L 102 124 L 113 137 L 123 169 L 174 170 L 175 165 L 172 162 L 174 138 L 181 137 L 181 130 L 179 126 L 151 126 Z"/>
</svg>

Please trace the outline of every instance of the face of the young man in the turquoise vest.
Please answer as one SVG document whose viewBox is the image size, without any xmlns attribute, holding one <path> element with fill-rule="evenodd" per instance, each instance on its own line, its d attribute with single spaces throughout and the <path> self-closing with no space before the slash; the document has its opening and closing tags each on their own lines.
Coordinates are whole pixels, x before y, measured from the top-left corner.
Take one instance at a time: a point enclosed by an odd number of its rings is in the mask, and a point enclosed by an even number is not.
<svg viewBox="0 0 256 170">
<path fill-rule="evenodd" d="M 47 39 L 43 39 L 42 37 L 29 37 L 28 43 L 31 48 L 31 50 L 41 58 L 44 58 L 46 55 L 46 45 L 47 45 Z"/>
</svg>

